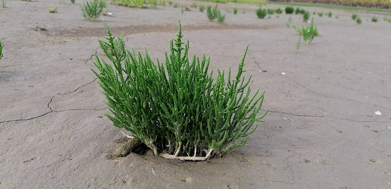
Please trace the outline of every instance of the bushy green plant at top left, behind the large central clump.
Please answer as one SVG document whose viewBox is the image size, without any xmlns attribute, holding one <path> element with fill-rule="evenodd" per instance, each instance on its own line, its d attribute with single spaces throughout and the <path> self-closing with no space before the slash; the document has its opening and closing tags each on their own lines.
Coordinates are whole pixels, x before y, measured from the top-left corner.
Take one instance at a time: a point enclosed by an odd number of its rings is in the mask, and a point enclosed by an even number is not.
<svg viewBox="0 0 391 189">
<path fill-rule="evenodd" d="M 84 5 L 80 5 L 83 17 L 88 21 L 96 20 L 102 13 L 103 8 L 106 7 L 106 1 L 93 0 L 91 2 L 84 2 Z"/>
</svg>

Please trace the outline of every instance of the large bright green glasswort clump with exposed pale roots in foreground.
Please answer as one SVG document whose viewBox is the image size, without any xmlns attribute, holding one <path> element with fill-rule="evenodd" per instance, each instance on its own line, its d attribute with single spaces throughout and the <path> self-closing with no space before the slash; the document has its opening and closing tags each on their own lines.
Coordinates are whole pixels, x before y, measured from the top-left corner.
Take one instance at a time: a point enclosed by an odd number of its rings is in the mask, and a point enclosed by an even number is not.
<svg viewBox="0 0 391 189">
<path fill-rule="evenodd" d="M 94 56 L 93 69 L 107 99 L 114 126 L 132 132 L 133 137 L 150 147 L 154 155 L 181 160 L 206 160 L 212 154 L 223 155 L 245 145 L 262 120 L 264 92 L 250 96 L 251 76 L 242 73 L 247 48 L 235 78 L 231 70 L 209 73 L 210 58 L 188 56 L 189 42 L 182 42 L 181 25 L 176 40 L 170 41 L 165 63 L 152 62 L 148 50 L 144 55 L 133 49 L 114 47 L 114 38 L 106 25 L 107 42 L 114 52 L 104 50 L 111 63 Z M 184 44 L 184 46 L 183 46 Z M 121 54 L 121 56 L 119 56 Z M 226 81 L 227 80 L 227 81 Z"/>
</svg>

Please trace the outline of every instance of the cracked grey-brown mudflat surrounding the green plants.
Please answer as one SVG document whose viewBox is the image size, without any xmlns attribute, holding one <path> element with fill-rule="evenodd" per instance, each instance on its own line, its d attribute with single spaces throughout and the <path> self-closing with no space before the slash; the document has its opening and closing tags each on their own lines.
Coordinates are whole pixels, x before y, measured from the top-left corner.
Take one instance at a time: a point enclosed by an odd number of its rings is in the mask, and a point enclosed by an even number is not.
<svg viewBox="0 0 391 189">
<path fill-rule="evenodd" d="M 333 16 L 315 15 L 321 36 L 295 53 L 299 36 L 285 26 L 289 16 L 261 20 L 255 5 L 238 5 L 239 14 L 227 13 L 219 24 L 168 4 L 108 4 L 112 16 L 86 21 L 78 0 L 5 2 L 0 188 L 391 188 L 391 24 L 382 20 L 391 15 L 370 22 L 373 13 L 306 8 Z M 195 1 L 177 2 L 190 8 Z M 58 13 L 48 13 L 51 7 Z M 126 137 L 104 116 L 105 99 L 90 71 L 91 55 L 102 55 L 101 19 L 125 34 L 128 47 L 147 47 L 160 58 L 181 19 L 190 53 L 211 56 L 211 69 L 236 70 L 249 44 L 246 74 L 253 88 L 266 90 L 266 122 L 246 146 L 209 162 L 134 153 L 109 159 Z M 304 24 L 297 15 L 292 23 Z"/>
</svg>

